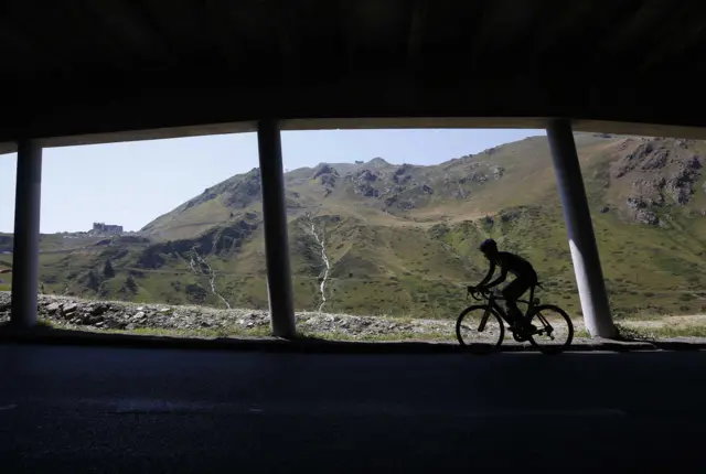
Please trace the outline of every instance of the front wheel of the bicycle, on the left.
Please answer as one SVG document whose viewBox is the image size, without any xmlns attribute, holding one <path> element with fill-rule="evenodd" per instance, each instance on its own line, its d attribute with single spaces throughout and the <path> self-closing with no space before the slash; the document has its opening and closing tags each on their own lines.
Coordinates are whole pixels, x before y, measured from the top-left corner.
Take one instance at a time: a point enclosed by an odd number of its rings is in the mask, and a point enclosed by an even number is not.
<svg viewBox="0 0 706 474">
<path fill-rule="evenodd" d="M 505 326 L 500 315 L 489 305 L 469 306 L 456 321 L 456 338 L 474 352 L 490 352 L 500 347 Z"/>
</svg>

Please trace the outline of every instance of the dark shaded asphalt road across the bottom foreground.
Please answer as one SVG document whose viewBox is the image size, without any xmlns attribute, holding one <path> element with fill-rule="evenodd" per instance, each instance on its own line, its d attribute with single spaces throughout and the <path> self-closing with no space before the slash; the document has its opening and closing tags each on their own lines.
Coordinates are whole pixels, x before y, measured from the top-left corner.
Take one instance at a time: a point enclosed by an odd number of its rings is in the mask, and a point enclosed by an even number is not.
<svg viewBox="0 0 706 474">
<path fill-rule="evenodd" d="M 0 472 L 706 472 L 705 363 L 0 345 Z"/>
</svg>

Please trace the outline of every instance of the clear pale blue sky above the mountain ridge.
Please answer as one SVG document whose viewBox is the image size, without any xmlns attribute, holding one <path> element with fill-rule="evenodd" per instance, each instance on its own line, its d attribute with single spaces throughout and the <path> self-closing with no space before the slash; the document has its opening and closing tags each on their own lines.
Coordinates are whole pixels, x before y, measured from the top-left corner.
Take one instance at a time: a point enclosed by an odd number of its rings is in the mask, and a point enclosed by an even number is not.
<svg viewBox="0 0 706 474">
<path fill-rule="evenodd" d="M 382 157 L 436 164 L 544 130 L 325 130 L 282 132 L 285 168 Z M 0 231 L 12 231 L 17 155 L 0 155 Z M 227 177 L 256 168 L 255 133 L 44 150 L 41 231 L 94 222 L 138 230 Z"/>
</svg>

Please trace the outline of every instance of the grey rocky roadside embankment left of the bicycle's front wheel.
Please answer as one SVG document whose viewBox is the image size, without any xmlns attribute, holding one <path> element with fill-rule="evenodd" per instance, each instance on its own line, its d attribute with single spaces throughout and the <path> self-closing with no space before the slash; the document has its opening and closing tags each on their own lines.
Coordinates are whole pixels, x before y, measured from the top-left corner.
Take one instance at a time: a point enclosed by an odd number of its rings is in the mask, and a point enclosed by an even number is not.
<svg viewBox="0 0 706 474">
<path fill-rule="evenodd" d="M 122 301 L 81 300 L 41 294 L 39 314 L 55 326 L 90 330 L 140 328 L 217 331 L 220 334 L 261 335 L 269 315 L 257 310 L 217 310 L 207 306 L 173 306 Z M 0 323 L 10 319 L 10 293 L 0 292 Z M 344 338 L 448 338 L 454 337 L 452 321 L 398 320 L 325 313 L 297 313 L 297 328 L 304 334 L 330 334 Z"/>
</svg>

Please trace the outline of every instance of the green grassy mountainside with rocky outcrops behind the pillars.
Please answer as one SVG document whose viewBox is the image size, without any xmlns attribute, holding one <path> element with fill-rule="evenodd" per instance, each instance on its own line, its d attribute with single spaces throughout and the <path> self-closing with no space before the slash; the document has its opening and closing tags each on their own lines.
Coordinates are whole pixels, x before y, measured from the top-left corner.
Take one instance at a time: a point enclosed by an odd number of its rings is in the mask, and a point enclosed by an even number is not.
<svg viewBox="0 0 706 474">
<path fill-rule="evenodd" d="M 616 314 L 704 311 L 706 146 L 576 140 Z M 44 290 L 266 308 L 259 180 L 256 169 L 204 190 L 148 224 L 143 238 L 43 236 Z M 328 312 L 453 316 L 464 286 L 485 271 L 478 244 L 492 236 L 535 265 L 544 301 L 579 314 L 546 138 L 434 166 L 321 163 L 287 173 L 286 183 L 298 310 L 325 298 Z"/>
</svg>

